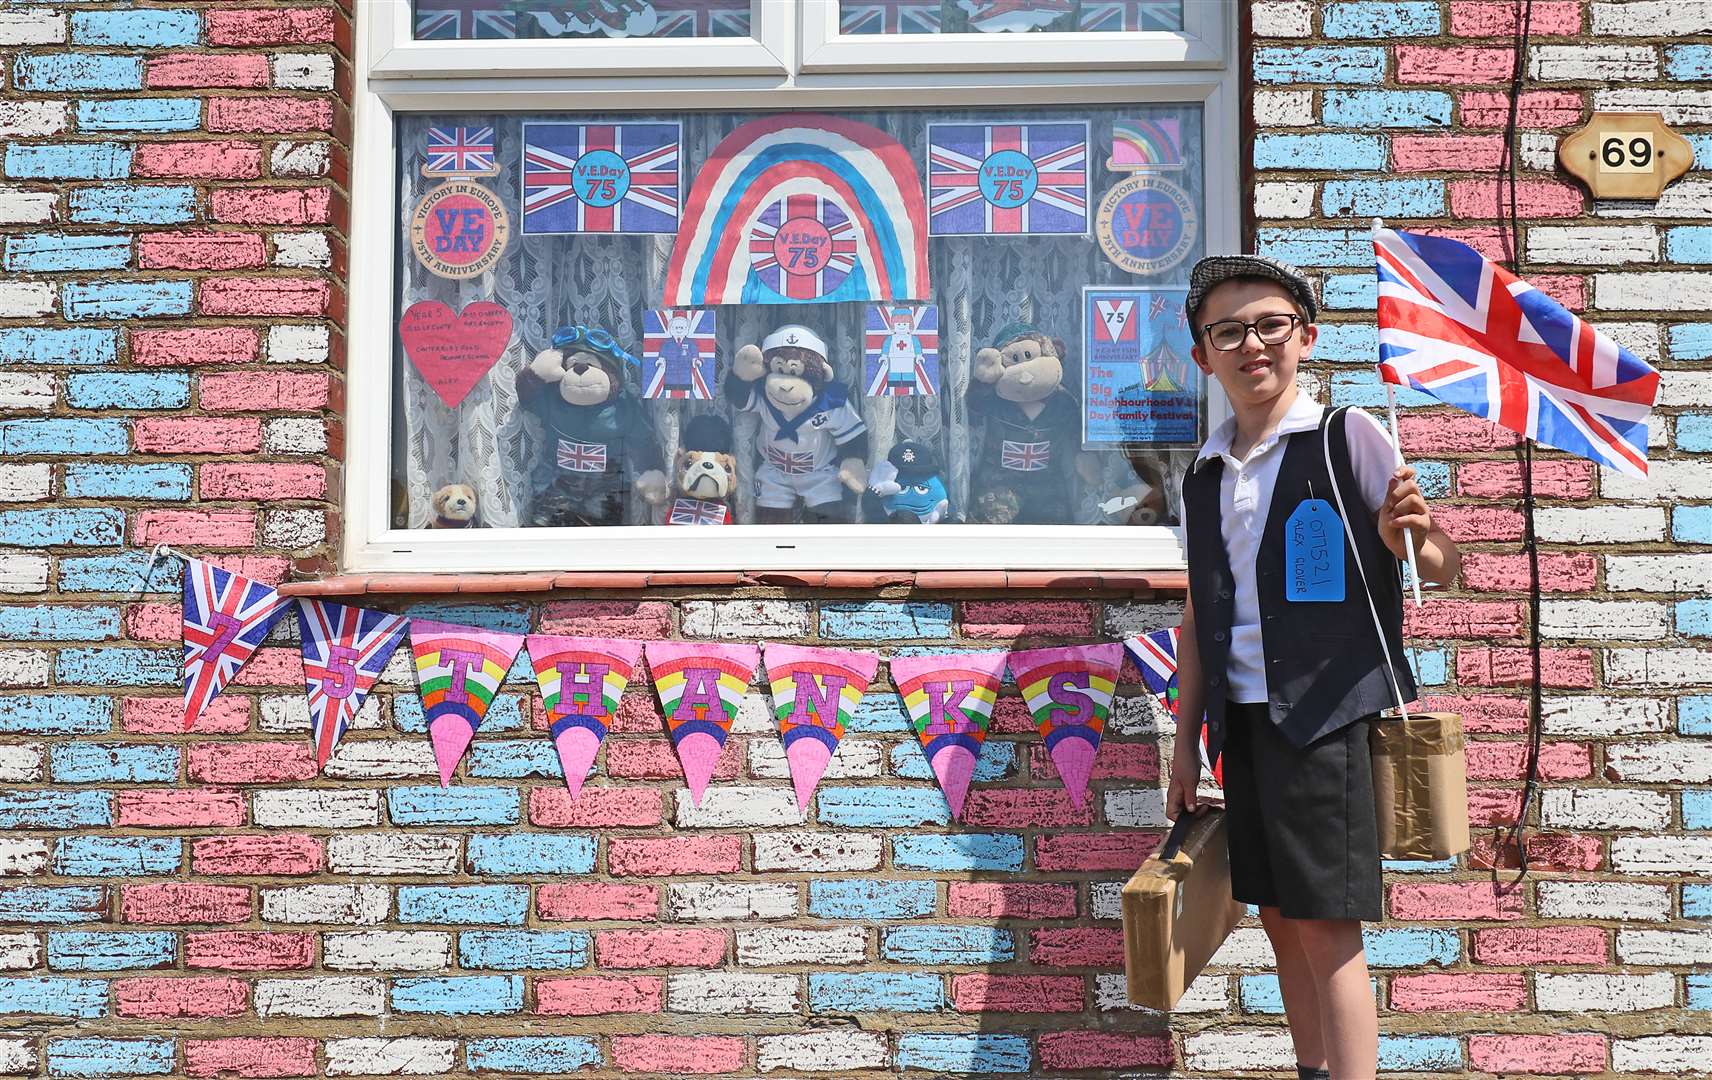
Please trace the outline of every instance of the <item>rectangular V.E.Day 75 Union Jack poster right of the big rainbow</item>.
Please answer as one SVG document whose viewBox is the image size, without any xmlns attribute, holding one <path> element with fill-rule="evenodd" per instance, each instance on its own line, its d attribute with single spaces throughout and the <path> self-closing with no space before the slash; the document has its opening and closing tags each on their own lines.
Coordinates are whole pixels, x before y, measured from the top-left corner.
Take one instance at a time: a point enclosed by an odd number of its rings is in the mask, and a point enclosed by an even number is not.
<svg viewBox="0 0 1712 1080">
<path fill-rule="evenodd" d="M 1087 123 L 930 123 L 928 233 L 1087 233 Z"/>
</svg>

